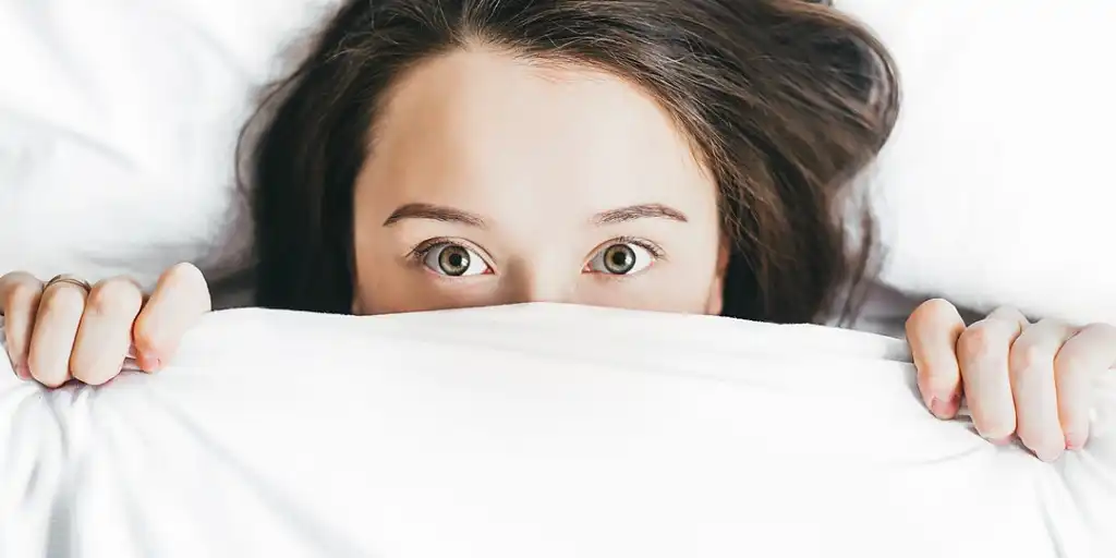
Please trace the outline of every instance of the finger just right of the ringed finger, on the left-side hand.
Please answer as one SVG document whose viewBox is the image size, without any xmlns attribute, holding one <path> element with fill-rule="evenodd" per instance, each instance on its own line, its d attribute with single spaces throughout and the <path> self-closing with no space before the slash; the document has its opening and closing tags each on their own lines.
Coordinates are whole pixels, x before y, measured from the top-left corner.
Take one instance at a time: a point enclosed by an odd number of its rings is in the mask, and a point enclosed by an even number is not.
<svg viewBox="0 0 1116 558">
<path fill-rule="evenodd" d="M 74 378 L 100 385 L 119 374 L 142 305 L 143 291 L 131 279 L 107 279 L 93 287 L 70 355 Z"/>
</svg>

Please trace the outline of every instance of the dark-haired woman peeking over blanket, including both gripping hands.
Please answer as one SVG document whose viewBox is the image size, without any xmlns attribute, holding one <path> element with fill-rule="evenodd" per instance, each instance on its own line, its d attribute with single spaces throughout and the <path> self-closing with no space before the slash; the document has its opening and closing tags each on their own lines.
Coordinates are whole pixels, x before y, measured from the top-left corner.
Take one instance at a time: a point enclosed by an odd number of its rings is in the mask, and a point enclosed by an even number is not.
<svg viewBox="0 0 1116 558">
<path fill-rule="evenodd" d="M 850 256 L 835 215 L 897 104 L 885 49 L 816 2 L 352 1 L 257 119 L 258 304 L 821 319 L 863 279 L 870 234 Z M 158 369 L 210 308 L 187 264 L 146 300 L 25 273 L 0 296 L 12 362 L 47 386 L 108 381 L 129 344 Z M 965 328 L 944 301 L 908 325 L 935 415 L 964 393 L 992 441 L 1084 444 L 1110 328 Z"/>
</svg>

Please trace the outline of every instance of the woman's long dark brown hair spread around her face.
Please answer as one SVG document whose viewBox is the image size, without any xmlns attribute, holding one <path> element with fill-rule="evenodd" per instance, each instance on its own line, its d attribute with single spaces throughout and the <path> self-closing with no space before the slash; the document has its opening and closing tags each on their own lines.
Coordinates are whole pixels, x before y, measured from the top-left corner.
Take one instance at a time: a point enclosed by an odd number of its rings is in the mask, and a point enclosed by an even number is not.
<svg viewBox="0 0 1116 558">
<path fill-rule="evenodd" d="M 724 315 L 816 319 L 866 270 L 839 206 L 894 125 L 884 47 L 806 0 L 354 0 L 267 98 L 249 154 L 258 304 L 348 312 L 354 182 L 378 102 L 483 44 L 643 87 L 701 151 L 734 241 Z M 259 124 L 259 122 L 257 122 Z M 250 124 L 252 126 L 252 124 Z M 246 128 L 248 129 L 248 128 Z M 866 221 L 870 223 L 870 220 Z"/>
</svg>

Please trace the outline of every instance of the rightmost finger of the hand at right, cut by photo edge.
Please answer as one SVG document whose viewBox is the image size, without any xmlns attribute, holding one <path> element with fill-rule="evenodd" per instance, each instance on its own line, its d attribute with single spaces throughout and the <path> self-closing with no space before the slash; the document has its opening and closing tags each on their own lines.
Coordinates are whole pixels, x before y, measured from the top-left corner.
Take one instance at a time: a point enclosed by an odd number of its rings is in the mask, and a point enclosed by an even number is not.
<svg viewBox="0 0 1116 558">
<path fill-rule="evenodd" d="M 1061 346 L 1054 359 L 1058 388 L 1058 420 L 1066 436 L 1066 449 L 1085 446 L 1089 439 L 1089 411 L 1093 406 L 1093 375 L 1116 367 L 1116 327 L 1094 324 Z"/>
</svg>

